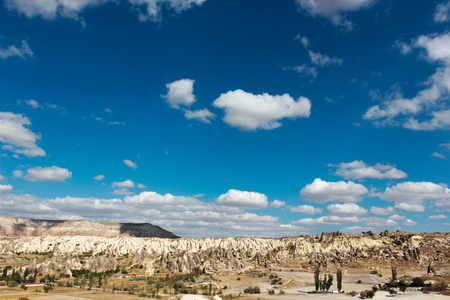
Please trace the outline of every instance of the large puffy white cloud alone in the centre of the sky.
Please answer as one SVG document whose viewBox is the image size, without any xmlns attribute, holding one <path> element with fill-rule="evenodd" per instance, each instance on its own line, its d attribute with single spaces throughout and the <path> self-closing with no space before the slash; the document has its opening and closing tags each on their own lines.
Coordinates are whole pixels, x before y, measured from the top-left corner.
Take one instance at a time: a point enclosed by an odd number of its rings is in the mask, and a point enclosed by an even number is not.
<svg viewBox="0 0 450 300">
<path fill-rule="evenodd" d="M 243 90 L 220 95 L 213 105 L 225 110 L 223 121 L 242 130 L 275 129 L 284 118 L 309 117 L 311 102 L 305 97 L 295 101 L 288 94 L 253 95 Z"/>
</svg>

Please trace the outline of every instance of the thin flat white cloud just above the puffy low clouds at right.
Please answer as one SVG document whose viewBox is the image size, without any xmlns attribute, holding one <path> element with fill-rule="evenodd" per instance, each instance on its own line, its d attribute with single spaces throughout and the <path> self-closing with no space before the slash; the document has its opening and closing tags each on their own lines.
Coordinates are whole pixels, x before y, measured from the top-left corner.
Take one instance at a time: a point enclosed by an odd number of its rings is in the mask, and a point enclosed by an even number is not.
<svg viewBox="0 0 450 300">
<path fill-rule="evenodd" d="M 370 166 L 362 160 L 330 166 L 337 168 L 335 175 L 342 176 L 345 179 L 400 179 L 407 176 L 405 172 L 396 169 L 393 165 L 376 164 Z"/>
</svg>

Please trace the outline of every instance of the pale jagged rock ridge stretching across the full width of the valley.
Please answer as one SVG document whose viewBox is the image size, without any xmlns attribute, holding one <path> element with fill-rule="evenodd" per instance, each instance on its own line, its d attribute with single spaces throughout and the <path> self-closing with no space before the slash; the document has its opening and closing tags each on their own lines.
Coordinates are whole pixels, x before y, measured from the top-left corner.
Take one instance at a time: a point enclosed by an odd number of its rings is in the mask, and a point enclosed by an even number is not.
<svg viewBox="0 0 450 300">
<path fill-rule="evenodd" d="M 46 254 L 45 261 L 23 261 L 40 273 L 87 268 L 102 272 L 121 267 L 155 272 L 209 274 L 255 268 L 309 269 L 338 266 L 377 269 L 391 265 L 427 267 L 448 265 L 450 233 L 387 233 L 270 238 L 161 239 L 116 236 L 45 236 L 0 239 L 0 257 L 17 253 Z M 50 256 L 48 256 L 50 254 Z M 43 258 L 42 255 L 39 256 Z M 47 258 L 48 257 L 48 258 Z M 0 261 L 1 263 L 1 261 Z M 19 261 L 16 265 L 20 265 Z"/>
</svg>

